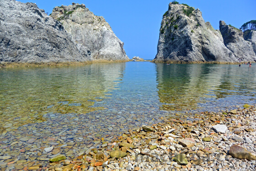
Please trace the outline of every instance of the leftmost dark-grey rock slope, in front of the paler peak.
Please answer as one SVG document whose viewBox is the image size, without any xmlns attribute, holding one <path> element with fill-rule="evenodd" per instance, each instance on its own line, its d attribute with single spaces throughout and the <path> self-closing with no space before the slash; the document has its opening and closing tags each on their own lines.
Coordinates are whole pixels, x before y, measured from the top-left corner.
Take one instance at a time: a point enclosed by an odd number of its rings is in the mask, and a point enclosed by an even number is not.
<svg viewBox="0 0 256 171">
<path fill-rule="evenodd" d="M 78 49 L 61 23 L 37 5 L 0 0 L 0 62 L 89 60 L 89 49 Z"/>
</svg>

